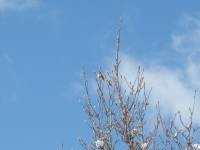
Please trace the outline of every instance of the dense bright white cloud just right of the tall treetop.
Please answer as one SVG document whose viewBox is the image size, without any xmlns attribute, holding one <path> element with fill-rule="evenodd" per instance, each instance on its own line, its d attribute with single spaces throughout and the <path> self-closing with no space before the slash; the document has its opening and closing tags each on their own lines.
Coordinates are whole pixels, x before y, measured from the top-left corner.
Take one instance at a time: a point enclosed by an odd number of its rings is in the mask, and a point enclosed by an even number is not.
<svg viewBox="0 0 200 150">
<path fill-rule="evenodd" d="M 193 104 L 195 89 L 190 88 L 188 83 L 182 80 L 182 74 L 185 74 L 184 70 L 170 70 L 159 64 L 147 66 L 134 58 L 123 55 L 121 72 L 128 80 L 133 81 L 138 65 L 145 68 L 146 85 L 149 89 L 152 88 L 151 102 L 155 105 L 159 101 L 164 113 L 181 111 L 183 116 L 188 116 L 189 107 Z M 200 105 L 198 101 L 196 104 Z M 194 119 L 199 122 L 197 112 L 200 113 L 196 109 Z"/>
</svg>

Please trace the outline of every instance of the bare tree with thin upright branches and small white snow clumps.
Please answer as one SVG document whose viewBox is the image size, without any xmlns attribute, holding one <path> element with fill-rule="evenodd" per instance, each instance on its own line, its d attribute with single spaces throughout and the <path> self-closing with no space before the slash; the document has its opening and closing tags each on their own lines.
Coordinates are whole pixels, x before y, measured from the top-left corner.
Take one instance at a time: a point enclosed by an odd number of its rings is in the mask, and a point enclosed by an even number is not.
<svg viewBox="0 0 200 150">
<path fill-rule="evenodd" d="M 92 131 L 92 141 L 81 144 L 86 150 L 115 150 L 118 143 L 128 150 L 147 149 L 200 149 L 194 144 L 194 107 L 190 110 L 189 124 L 181 114 L 172 119 L 163 119 L 159 105 L 157 115 L 151 119 L 152 128 L 146 118 L 151 90 L 146 89 L 144 70 L 138 67 L 134 82 L 127 81 L 120 72 L 120 32 L 116 32 L 116 55 L 110 71 L 100 68 L 95 72 L 96 95 L 90 95 L 87 73 L 84 78 L 84 111 Z M 176 123 L 177 118 L 180 123 Z M 149 129 L 150 128 L 150 129 Z M 198 134 L 197 134 L 198 135 Z M 199 134 L 200 135 L 200 134 Z M 198 142 L 197 142 L 198 143 Z"/>
</svg>

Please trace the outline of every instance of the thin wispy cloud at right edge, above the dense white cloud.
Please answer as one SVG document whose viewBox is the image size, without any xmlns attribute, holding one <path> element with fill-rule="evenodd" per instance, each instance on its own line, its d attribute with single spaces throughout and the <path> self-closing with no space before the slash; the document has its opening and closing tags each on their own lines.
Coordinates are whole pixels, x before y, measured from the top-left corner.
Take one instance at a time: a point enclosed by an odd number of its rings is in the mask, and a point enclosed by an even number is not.
<svg viewBox="0 0 200 150">
<path fill-rule="evenodd" d="M 190 84 L 200 87 L 200 15 L 184 15 L 181 31 L 172 34 L 172 48 L 185 60 L 185 73 Z"/>
</svg>

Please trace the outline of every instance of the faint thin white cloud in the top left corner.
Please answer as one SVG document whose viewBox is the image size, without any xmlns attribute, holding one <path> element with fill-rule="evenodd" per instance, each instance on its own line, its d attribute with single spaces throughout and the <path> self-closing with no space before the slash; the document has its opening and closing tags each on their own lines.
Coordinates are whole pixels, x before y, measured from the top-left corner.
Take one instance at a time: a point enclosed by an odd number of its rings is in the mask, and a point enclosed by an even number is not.
<svg viewBox="0 0 200 150">
<path fill-rule="evenodd" d="M 38 6 L 39 0 L 0 0 L 0 11 L 23 10 Z"/>
</svg>

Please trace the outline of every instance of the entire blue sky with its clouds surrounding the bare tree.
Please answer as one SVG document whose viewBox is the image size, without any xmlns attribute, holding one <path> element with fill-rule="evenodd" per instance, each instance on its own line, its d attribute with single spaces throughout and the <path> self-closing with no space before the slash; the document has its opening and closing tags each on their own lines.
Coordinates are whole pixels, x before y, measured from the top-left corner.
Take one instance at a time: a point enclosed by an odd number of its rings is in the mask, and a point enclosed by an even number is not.
<svg viewBox="0 0 200 150">
<path fill-rule="evenodd" d="M 187 114 L 200 86 L 199 6 L 188 0 L 0 0 L 0 149 L 56 150 L 62 143 L 80 149 L 78 138 L 88 137 L 81 70 L 90 75 L 111 65 L 120 17 L 122 73 L 132 80 L 142 65 L 153 103 Z"/>
</svg>

